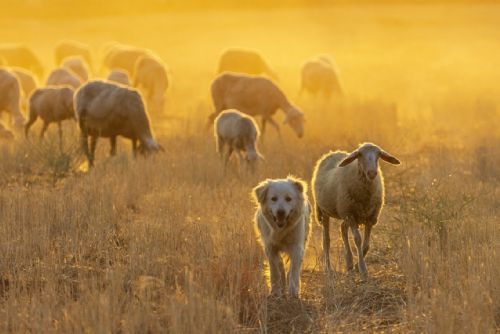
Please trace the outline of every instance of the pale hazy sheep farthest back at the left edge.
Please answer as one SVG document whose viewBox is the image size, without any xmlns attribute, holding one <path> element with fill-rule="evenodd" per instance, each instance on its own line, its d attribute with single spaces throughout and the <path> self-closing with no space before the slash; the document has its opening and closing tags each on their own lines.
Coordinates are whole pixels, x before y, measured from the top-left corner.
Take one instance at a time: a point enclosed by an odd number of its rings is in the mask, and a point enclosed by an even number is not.
<svg viewBox="0 0 500 334">
<path fill-rule="evenodd" d="M 43 76 L 43 66 L 37 56 L 22 45 L 0 45 L 0 57 L 10 67 L 22 67 L 35 73 L 38 78 Z"/>
</svg>

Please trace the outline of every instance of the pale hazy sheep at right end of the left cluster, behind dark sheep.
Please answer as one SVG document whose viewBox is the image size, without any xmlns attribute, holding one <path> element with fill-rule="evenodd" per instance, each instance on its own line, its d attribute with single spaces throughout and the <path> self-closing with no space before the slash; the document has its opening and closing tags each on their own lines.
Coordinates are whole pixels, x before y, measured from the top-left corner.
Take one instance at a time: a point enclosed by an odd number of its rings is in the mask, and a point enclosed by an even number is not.
<svg viewBox="0 0 500 334">
<path fill-rule="evenodd" d="M 168 76 L 161 60 L 142 56 L 137 59 L 134 69 L 134 87 L 139 89 L 146 99 L 148 110 L 160 114 L 165 103 L 168 88 Z"/>
</svg>

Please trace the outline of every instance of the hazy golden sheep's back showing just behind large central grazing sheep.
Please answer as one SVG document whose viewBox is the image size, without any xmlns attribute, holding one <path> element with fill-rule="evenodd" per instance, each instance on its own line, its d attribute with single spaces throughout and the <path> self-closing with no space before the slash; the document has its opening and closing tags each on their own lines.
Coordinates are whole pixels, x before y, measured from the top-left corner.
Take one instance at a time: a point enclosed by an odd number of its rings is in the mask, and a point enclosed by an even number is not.
<svg viewBox="0 0 500 334">
<path fill-rule="evenodd" d="M 268 75 L 277 80 L 276 73 L 267 65 L 258 52 L 244 49 L 228 49 L 219 60 L 217 74 L 236 72 L 250 75 Z"/>
</svg>

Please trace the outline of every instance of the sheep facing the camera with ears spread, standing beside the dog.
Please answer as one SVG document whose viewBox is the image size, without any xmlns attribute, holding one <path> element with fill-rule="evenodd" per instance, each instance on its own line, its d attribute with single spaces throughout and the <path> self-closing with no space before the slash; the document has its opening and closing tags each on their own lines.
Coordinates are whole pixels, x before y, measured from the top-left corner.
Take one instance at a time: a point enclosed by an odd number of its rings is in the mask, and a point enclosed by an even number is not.
<svg viewBox="0 0 500 334">
<path fill-rule="evenodd" d="M 341 232 L 347 270 L 353 269 L 348 229 L 358 251 L 358 269 L 367 276 L 365 256 L 370 248 L 370 233 L 377 224 L 384 205 L 384 180 L 378 165 L 381 158 L 394 165 L 400 161 L 375 144 L 363 143 L 348 154 L 335 151 L 324 155 L 314 168 L 312 184 L 316 219 L 323 226 L 323 252 L 326 268 L 330 266 L 329 218 L 342 219 Z M 361 242 L 359 225 L 365 226 Z"/>
</svg>

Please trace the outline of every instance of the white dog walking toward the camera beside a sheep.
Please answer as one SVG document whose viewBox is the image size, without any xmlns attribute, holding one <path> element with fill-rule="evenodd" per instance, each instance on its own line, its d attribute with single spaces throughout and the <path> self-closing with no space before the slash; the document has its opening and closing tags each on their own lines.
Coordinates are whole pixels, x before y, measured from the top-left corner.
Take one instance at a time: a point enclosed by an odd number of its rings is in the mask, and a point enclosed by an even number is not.
<svg viewBox="0 0 500 334">
<path fill-rule="evenodd" d="M 255 187 L 253 193 L 258 204 L 255 221 L 271 271 L 271 294 L 285 293 L 285 267 L 281 257 L 281 253 L 285 253 L 290 259 L 288 294 L 298 297 L 311 213 L 307 184 L 290 176 L 268 179 Z"/>
</svg>

